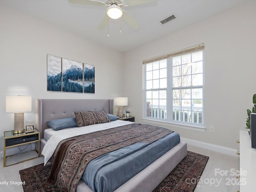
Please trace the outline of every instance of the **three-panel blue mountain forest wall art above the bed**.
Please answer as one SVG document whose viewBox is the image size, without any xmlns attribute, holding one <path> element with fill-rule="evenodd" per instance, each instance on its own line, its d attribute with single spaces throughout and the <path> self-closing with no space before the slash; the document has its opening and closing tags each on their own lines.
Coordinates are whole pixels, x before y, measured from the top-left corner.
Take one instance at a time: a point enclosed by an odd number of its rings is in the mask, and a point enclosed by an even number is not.
<svg viewBox="0 0 256 192">
<path fill-rule="evenodd" d="M 47 54 L 47 90 L 95 93 L 95 66 Z"/>
</svg>

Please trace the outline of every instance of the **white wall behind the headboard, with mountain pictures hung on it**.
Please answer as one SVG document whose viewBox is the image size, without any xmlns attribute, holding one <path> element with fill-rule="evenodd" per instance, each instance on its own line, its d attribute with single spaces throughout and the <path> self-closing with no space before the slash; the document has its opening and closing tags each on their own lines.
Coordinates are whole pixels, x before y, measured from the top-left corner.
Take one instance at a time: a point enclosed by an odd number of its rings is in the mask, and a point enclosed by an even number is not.
<svg viewBox="0 0 256 192">
<path fill-rule="evenodd" d="M 95 94 L 47 92 L 47 54 L 94 65 Z M 32 112 L 25 112 L 25 124 L 35 120 L 36 98 L 121 96 L 122 86 L 116 80 L 123 76 L 122 57 L 121 52 L 0 5 L 0 151 L 3 131 L 14 127 L 14 114 L 5 112 L 5 96 L 32 96 Z"/>
</svg>

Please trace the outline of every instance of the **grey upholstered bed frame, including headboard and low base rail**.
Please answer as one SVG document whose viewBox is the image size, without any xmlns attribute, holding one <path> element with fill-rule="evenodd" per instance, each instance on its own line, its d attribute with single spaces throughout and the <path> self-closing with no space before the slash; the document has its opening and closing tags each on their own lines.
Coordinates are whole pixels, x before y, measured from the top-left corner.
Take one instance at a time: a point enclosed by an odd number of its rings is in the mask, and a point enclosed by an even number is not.
<svg viewBox="0 0 256 192">
<path fill-rule="evenodd" d="M 74 111 L 105 110 L 113 114 L 113 100 L 108 99 L 37 99 L 36 100 L 36 128 L 41 133 L 41 150 L 46 145 L 44 131 L 48 129 L 49 120 L 74 117 Z M 124 121 L 119 120 L 121 123 Z M 47 136 L 48 137 L 48 136 Z M 186 156 L 186 142 L 179 142 L 160 158 L 152 162 L 138 174 L 118 187 L 115 192 L 151 192 L 171 172 L 173 168 Z M 77 192 L 92 192 L 92 189 L 80 180 Z"/>
</svg>

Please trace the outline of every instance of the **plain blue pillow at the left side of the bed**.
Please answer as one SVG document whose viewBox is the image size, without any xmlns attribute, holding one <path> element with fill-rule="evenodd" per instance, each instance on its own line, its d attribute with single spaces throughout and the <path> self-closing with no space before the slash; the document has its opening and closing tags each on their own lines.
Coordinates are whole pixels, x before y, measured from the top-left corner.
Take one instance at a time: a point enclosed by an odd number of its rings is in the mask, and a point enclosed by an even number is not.
<svg viewBox="0 0 256 192">
<path fill-rule="evenodd" d="M 61 130 L 65 128 L 78 126 L 75 117 L 51 120 L 46 122 L 46 124 L 54 130 Z"/>
</svg>

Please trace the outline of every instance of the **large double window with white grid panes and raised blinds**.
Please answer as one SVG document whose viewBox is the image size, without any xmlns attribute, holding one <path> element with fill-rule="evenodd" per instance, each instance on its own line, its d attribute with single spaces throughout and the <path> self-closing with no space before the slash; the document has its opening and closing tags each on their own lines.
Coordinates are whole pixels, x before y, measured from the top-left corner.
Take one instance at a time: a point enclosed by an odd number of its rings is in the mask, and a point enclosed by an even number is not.
<svg viewBox="0 0 256 192">
<path fill-rule="evenodd" d="M 144 61 L 144 117 L 204 124 L 204 44 Z"/>
</svg>

